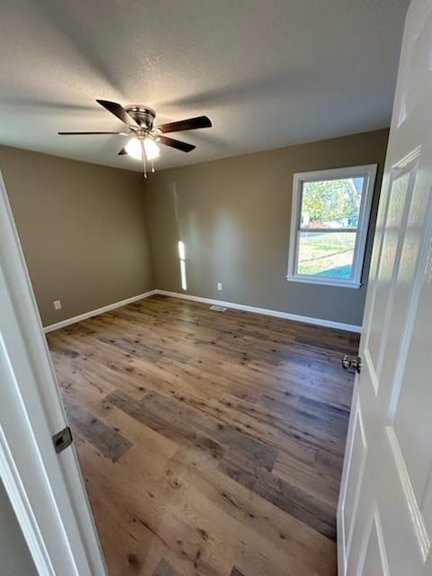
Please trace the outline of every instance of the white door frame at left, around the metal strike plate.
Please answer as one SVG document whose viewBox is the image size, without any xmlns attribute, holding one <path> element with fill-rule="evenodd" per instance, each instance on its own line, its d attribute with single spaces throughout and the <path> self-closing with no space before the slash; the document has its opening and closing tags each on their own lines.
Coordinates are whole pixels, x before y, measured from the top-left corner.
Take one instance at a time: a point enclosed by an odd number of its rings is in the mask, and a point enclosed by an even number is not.
<svg viewBox="0 0 432 576">
<path fill-rule="evenodd" d="M 0 478 L 38 573 L 103 576 L 75 449 L 51 440 L 66 419 L 1 175 L 0 391 Z"/>
</svg>

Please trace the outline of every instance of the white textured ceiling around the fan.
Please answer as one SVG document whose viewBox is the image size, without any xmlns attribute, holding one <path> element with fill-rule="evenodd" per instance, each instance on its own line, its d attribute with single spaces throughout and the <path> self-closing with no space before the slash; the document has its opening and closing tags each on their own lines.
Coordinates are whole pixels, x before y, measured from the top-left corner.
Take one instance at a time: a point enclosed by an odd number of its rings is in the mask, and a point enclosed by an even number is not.
<svg viewBox="0 0 432 576">
<path fill-rule="evenodd" d="M 0 143 L 139 170 L 95 98 L 146 104 L 170 136 L 157 168 L 389 125 L 409 0 L 4 0 Z"/>
</svg>

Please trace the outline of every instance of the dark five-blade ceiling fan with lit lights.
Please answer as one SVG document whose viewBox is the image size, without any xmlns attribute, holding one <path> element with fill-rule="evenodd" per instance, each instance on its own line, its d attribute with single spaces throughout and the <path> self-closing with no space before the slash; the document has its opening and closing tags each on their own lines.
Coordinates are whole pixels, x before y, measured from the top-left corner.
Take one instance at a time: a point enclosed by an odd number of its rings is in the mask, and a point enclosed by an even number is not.
<svg viewBox="0 0 432 576">
<path fill-rule="evenodd" d="M 116 102 L 109 100 L 96 100 L 103 108 L 111 112 L 116 118 L 121 120 L 128 127 L 126 132 L 58 132 L 61 136 L 84 136 L 90 134 L 119 134 L 121 136 L 130 136 L 129 142 L 124 148 L 121 148 L 119 155 L 128 154 L 131 157 L 142 160 L 144 177 L 147 178 L 146 159 L 151 161 L 151 171 L 155 168 L 153 160 L 159 156 L 158 143 L 165 144 L 171 148 L 181 150 L 182 152 L 191 152 L 193 144 L 188 144 L 181 140 L 167 138 L 164 134 L 170 132 L 179 132 L 183 130 L 196 130 L 197 128 L 210 128 L 211 121 L 207 116 L 197 116 L 186 120 L 168 122 L 153 126 L 156 112 L 152 108 L 139 104 L 130 104 L 121 106 Z"/>
</svg>

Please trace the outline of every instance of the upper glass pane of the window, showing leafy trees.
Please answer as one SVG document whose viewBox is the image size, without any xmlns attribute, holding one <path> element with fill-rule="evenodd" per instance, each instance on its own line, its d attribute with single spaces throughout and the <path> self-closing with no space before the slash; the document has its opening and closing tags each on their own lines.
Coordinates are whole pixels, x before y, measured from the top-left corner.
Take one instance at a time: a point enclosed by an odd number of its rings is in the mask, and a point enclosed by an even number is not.
<svg viewBox="0 0 432 576">
<path fill-rule="evenodd" d="M 302 229 L 354 228 L 365 177 L 303 182 Z"/>
</svg>

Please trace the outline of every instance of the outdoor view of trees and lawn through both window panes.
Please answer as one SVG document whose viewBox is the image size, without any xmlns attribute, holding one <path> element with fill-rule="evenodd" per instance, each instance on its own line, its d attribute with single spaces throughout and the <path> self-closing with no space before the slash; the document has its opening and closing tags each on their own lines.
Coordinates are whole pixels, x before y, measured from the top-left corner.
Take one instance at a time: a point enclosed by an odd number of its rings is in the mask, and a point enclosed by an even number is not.
<svg viewBox="0 0 432 576">
<path fill-rule="evenodd" d="M 297 274 L 349 279 L 365 177 L 302 184 Z"/>
</svg>

